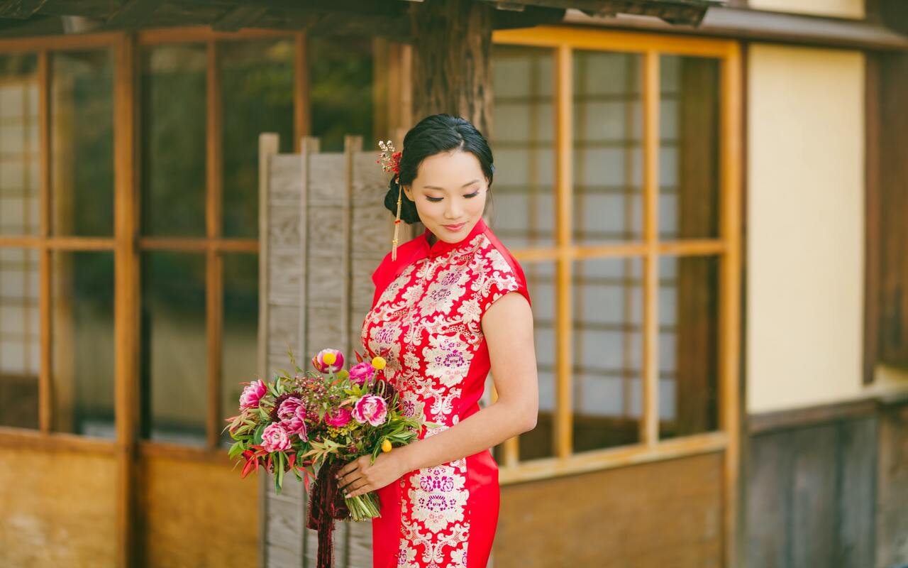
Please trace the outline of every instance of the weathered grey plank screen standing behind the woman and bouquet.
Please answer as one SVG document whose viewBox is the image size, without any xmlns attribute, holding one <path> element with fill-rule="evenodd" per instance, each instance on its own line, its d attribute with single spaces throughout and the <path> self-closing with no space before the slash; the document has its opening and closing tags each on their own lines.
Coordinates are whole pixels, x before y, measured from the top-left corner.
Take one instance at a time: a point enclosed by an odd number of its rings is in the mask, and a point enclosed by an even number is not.
<svg viewBox="0 0 908 568">
<path fill-rule="evenodd" d="M 324 347 L 341 349 L 354 361 L 362 353 L 360 328 L 371 307 L 371 274 L 390 249 L 393 225 L 383 206 L 387 174 L 378 152 L 361 152 L 348 136 L 344 153 L 319 153 L 304 138 L 301 154 L 275 154 L 262 137 L 262 334 L 263 374 L 289 368 L 293 350 L 301 367 Z M 261 364 L 260 364 L 261 366 Z M 286 483 L 274 494 L 262 479 L 262 565 L 315 565 L 316 533 L 304 528 L 306 496 Z M 371 524 L 338 523 L 337 568 L 371 565 Z"/>
</svg>

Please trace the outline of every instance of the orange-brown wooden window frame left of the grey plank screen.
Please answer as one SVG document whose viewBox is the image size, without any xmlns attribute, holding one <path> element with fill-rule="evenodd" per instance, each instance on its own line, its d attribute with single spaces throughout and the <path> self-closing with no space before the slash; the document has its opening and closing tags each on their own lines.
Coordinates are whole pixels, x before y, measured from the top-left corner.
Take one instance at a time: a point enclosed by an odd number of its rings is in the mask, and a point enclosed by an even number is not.
<svg viewBox="0 0 908 568">
<path fill-rule="evenodd" d="M 70 451 L 114 455 L 117 461 L 117 559 L 131 565 L 138 550 L 135 530 L 136 454 L 166 455 L 179 460 L 229 464 L 219 446 L 222 429 L 221 325 L 222 253 L 258 254 L 258 239 L 221 238 L 221 124 L 218 111 L 216 46 L 218 42 L 262 37 L 291 37 L 295 42 L 293 96 L 294 139 L 309 131 L 309 101 L 306 76 L 306 39 L 302 32 L 248 30 L 214 32 L 206 27 L 148 30 L 138 34 L 104 32 L 86 35 L 59 35 L 0 40 L 0 54 L 34 53 L 39 75 L 39 229 L 29 236 L 0 235 L 0 247 L 35 250 L 39 254 L 40 370 L 38 375 L 39 428 L 0 427 L 0 446 L 41 451 Z M 139 162 L 137 149 L 139 53 L 143 45 L 167 43 L 208 45 L 208 93 L 206 121 L 205 236 L 199 238 L 140 237 Z M 50 233 L 50 101 L 49 56 L 54 52 L 84 49 L 112 49 L 114 56 L 114 234 L 109 237 L 54 236 Z M 297 142 L 297 145 L 299 142 Z M 206 255 L 206 331 L 208 342 L 205 447 L 138 439 L 139 365 L 139 259 L 149 250 L 204 252 Z M 112 251 L 114 253 L 114 421 L 113 440 L 73 433 L 52 432 L 53 390 L 51 384 L 51 254 L 54 251 Z"/>
</svg>

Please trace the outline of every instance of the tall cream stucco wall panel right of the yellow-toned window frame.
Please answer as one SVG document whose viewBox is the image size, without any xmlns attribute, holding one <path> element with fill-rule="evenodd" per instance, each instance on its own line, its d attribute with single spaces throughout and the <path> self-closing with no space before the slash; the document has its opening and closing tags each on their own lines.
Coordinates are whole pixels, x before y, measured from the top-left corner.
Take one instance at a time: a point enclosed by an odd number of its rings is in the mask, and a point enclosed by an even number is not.
<svg viewBox="0 0 908 568">
<path fill-rule="evenodd" d="M 747 410 L 866 395 L 864 55 L 752 45 Z"/>
</svg>

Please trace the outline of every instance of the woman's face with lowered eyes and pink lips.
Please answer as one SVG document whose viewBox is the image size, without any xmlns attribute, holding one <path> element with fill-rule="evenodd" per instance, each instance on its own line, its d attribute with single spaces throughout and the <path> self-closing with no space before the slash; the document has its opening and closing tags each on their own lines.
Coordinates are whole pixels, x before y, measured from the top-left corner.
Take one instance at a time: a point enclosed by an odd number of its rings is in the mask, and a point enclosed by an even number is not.
<svg viewBox="0 0 908 568">
<path fill-rule="evenodd" d="M 404 192 L 416 203 L 419 220 L 439 241 L 457 243 L 482 217 L 489 180 L 479 159 L 451 150 L 430 155 L 419 164 L 416 179 Z"/>
</svg>

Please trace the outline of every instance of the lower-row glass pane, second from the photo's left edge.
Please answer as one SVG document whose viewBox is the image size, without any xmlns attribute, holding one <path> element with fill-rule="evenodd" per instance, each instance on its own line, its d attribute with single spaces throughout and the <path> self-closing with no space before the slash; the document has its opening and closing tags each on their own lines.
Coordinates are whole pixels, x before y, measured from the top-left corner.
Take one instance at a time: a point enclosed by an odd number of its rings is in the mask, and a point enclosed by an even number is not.
<svg viewBox="0 0 908 568">
<path fill-rule="evenodd" d="M 114 253 L 51 254 L 54 432 L 115 438 Z"/>
</svg>

